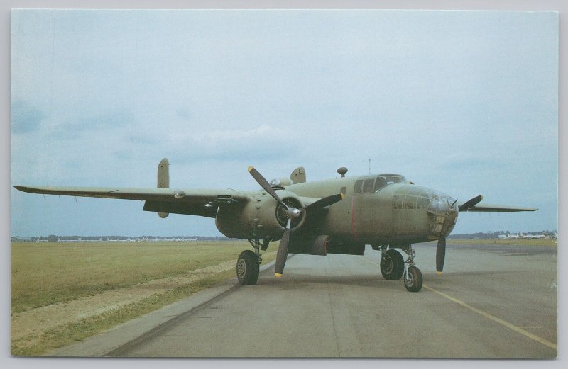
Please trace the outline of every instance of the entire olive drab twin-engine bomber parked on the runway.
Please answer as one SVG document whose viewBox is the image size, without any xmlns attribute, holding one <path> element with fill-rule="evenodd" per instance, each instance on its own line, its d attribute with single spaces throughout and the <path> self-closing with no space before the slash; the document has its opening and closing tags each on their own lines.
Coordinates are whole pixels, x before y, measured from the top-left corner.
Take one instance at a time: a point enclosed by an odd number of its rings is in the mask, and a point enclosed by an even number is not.
<svg viewBox="0 0 568 369">
<path fill-rule="evenodd" d="M 381 273 L 387 280 L 403 278 L 407 290 L 422 288 L 412 244 L 438 240 L 436 270 L 442 273 L 446 237 L 459 212 L 534 211 L 500 205 L 479 205 L 482 196 L 458 202 L 449 195 L 417 186 L 398 174 L 346 177 L 306 182 L 305 169 L 271 183 L 254 169 L 249 173 L 258 191 L 170 188 L 168 159 L 158 165 L 158 188 L 89 188 L 15 186 L 29 193 L 143 200 L 143 210 L 212 217 L 219 232 L 248 239 L 254 251 L 237 259 L 236 276 L 243 285 L 258 279 L 261 250 L 280 240 L 275 276 L 280 277 L 288 254 L 363 255 L 365 245 L 381 252 Z M 403 254 L 406 258 L 403 258 Z"/>
</svg>

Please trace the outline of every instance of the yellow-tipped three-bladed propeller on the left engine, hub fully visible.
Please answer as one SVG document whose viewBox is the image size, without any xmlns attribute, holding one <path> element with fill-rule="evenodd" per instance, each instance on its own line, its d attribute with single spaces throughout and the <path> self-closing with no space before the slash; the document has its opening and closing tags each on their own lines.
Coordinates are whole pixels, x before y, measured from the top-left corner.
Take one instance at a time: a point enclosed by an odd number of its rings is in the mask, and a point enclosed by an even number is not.
<svg viewBox="0 0 568 369">
<path fill-rule="evenodd" d="M 284 271 L 286 259 L 288 257 L 288 244 L 290 243 L 290 225 L 292 223 L 292 218 L 299 217 L 302 214 L 302 211 L 308 210 L 310 208 L 324 208 L 326 206 L 337 203 L 337 201 L 342 200 L 344 195 L 342 193 L 339 193 L 337 195 L 327 196 L 326 198 L 320 198 L 320 200 L 317 200 L 310 205 L 296 209 L 292 206 L 286 205 L 286 203 L 284 203 L 283 200 L 278 196 L 276 191 L 274 191 L 270 183 L 266 181 L 266 178 L 264 178 L 262 174 L 258 173 L 258 171 L 252 166 L 249 166 L 249 173 L 251 174 L 251 176 L 253 176 L 255 181 L 259 185 L 261 185 L 264 191 L 271 195 L 274 200 L 276 200 L 286 209 L 286 216 L 288 217 L 288 221 L 286 222 L 286 227 L 284 229 L 284 233 L 282 234 L 282 239 L 280 239 L 280 246 L 278 246 L 278 252 L 276 253 L 275 276 L 281 277 Z"/>
</svg>

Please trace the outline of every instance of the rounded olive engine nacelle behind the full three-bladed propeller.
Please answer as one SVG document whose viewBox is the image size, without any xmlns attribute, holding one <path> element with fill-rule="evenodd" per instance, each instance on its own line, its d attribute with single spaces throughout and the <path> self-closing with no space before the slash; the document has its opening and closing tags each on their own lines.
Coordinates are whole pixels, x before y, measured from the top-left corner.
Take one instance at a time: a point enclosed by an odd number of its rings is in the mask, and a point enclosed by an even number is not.
<svg viewBox="0 0 568 369">
<path fill-rule="evenodd" d="M 290 191 L 278 190 L 278 196 L 288 207 L 300 209 L 303 207 L 300 198 Z M 294 232 L 305 222 L 305 212 L 293 217 L 290 229 Z M 219 206 L 215 225 L 219 232 L 230 238 L 240 239 L 271 239 L 282 237 L 288 222 L 287 209 L 280 205 L 271 195 L 258 193 L 249 203 L 242 206 Z"/>
</svg>

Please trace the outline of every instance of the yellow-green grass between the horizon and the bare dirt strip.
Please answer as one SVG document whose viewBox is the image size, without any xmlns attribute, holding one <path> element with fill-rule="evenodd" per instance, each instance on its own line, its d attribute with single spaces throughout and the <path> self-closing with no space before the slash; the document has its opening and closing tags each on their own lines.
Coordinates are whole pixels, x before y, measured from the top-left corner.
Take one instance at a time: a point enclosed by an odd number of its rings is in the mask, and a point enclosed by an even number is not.
<svg viewBox="0 0 568 369">
<path fill-rule="evenodd" d="M 248 242 L 12 244 L 11 312 L 236 260 Z"/>
</svg>

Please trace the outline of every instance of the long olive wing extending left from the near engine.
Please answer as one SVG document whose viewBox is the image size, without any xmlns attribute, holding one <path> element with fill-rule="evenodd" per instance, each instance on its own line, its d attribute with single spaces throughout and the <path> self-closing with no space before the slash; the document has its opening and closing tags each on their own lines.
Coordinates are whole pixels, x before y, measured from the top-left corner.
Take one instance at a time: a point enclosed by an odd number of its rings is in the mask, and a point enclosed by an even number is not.
<svg viewBox="0 0 568 369">
<path fill-rule="evenodd" d="M 112 188 L 112 187 L 28 187 L 14 186 L 29 193 L 46 195 L 82 196 L 89 198 L 118 198 L 125 200 L 143 200 L 143 210 L 175 214 L 200 215 L 215 217 L 217 208 L 222 204 L 247 203 L 249 193 L 235 190 L 174 188 Z"/>
</svg>

